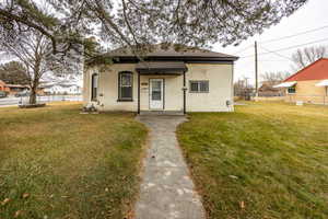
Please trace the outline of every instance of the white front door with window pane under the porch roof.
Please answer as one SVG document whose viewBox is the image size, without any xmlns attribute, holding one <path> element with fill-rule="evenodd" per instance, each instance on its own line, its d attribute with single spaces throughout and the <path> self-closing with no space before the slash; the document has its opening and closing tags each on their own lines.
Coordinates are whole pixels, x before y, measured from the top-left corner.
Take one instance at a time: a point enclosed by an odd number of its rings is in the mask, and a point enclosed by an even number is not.
<svg viewBox="0 0 328 219">
<path fill-rule="evenodd" d="M 150 79 L 150 110 L 164 110 L 164 80 Z"/>
</svg>

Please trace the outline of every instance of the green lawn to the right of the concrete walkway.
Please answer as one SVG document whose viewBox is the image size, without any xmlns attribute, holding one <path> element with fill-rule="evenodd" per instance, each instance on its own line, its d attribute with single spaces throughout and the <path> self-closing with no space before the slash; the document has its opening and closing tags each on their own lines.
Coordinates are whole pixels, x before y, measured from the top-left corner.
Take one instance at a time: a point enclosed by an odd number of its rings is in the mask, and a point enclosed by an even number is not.
<svg viewBox="0 0 328 219">
<path fill-rule="evenodd" d="M 210 219 L 328 218 L 328 107 L 195 113 L 177 135 Z"/>
</svg>

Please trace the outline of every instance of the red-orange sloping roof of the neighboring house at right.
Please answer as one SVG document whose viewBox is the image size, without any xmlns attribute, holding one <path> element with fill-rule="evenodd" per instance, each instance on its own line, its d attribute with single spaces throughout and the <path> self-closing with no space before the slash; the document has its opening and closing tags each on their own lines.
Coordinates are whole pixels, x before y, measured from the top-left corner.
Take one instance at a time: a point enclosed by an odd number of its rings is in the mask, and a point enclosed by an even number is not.
<svg viewBox="0 0 328 219">
<path fill-rule="evenodd" d="M 325 79 L 328 79 L 328 58 L 318 59 L 284 81 L 308 81 Z"/>
</svg>

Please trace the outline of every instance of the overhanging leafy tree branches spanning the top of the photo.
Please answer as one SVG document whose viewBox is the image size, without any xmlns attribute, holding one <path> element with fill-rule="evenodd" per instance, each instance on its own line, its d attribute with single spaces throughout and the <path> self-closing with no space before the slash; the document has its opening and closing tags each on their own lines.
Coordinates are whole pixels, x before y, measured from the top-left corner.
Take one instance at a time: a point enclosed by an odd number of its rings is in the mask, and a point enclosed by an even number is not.
<svg viewBox="0 0 328 219">
<path fill-rule="evenodd" d="M 289 16 L 307 0 L 0 0 L 0 32 L 16 37 L 25 26 L 57 42 L 83 43 L 79 34 L 102 35 L 113 47 L 169 42 L 207 47 L 238 44 Z M 91 25 L 91 24 L 94 25 Z M 94 27 L 101 26 L 101 30 Z M 162 44 L 165 45 L 165 44 Z"/>
</svg>

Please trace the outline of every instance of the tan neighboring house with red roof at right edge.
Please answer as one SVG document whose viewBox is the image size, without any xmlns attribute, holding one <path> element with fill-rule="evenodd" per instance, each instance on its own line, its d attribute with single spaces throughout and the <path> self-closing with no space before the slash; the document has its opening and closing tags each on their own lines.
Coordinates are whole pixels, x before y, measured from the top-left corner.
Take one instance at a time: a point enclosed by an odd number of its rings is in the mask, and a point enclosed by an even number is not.
<svg viewBox="0 0 328 219">
<path fill-rule="evenodd" d="M 328 104 L 328 58 L 320 58 L 276 88 L 284 88 L 286 101 Z"/>
</svg>

